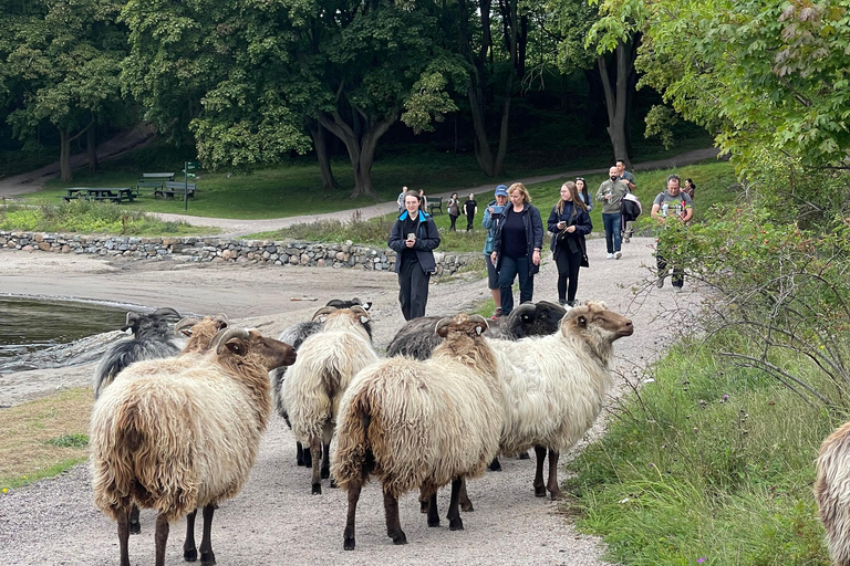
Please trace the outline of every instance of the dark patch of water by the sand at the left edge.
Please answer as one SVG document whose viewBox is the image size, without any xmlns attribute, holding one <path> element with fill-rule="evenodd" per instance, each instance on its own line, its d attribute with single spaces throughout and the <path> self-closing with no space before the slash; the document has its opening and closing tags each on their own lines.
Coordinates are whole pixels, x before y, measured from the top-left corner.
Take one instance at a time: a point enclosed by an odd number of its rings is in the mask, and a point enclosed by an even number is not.
<svg viewBox="0 0 850 566">
<path fill-rule="evenodd" d="M 120 329 L 127 308 L 103 303 L 0 296 L 0 358 Z"/>
</svg>

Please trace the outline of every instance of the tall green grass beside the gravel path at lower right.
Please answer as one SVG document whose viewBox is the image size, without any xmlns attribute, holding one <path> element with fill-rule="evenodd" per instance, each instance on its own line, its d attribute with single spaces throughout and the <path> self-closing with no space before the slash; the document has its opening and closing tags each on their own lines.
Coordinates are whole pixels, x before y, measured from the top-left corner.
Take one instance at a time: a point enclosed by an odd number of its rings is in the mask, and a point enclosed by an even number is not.
<svg viewBox="0 0 850 566">
<path fill-rule="evenodd" d="M 811 494 L 838 424 L 777 381 L 718 365 L 730 333 L 687 342 L 569 464 L 579 527 L 628 565 L 830 564 Z M 810 373 L 790 356 L 790 373 Z M 807 375 L 807 378 L 811 378 Z M 821 380 L 819 386 L 829 388 Z"/>
</svg>

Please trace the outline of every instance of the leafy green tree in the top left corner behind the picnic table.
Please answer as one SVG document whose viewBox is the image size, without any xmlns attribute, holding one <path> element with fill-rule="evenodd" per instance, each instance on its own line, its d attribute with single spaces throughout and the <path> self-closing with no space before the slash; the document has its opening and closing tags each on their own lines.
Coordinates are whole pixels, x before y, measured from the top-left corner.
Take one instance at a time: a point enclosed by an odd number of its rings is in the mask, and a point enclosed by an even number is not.
<svg viewBox="0 0 850 566">
<path fill-rule="evenodd" d="M 60 134 L 60 171 L 71 180 L 71 143 L 89 134 L 90 167 L 96 167 L 92 127 L 121 112 L 118 73 L 126 31 L 116 25 L 120 4 L 110 0 L 2 3 L 0 84 L 15 106 L 7 120 L 20 139 L 40 122 Z"/>
</svg>

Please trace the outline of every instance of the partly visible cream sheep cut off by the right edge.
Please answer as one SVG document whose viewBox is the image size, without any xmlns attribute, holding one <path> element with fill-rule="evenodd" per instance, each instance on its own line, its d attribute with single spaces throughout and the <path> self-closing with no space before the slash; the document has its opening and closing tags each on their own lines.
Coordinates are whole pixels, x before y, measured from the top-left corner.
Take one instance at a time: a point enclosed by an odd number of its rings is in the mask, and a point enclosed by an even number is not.
<svg viewBox="0 0 850 566">
<path fill-rule="evenodd" d="M 815 500 L 820 521 L 827 531 L 829 555 L 836 566 L 850 566 L 850 422 L 846 422 L 823 440 L 817 460 Z"/>
</svg>

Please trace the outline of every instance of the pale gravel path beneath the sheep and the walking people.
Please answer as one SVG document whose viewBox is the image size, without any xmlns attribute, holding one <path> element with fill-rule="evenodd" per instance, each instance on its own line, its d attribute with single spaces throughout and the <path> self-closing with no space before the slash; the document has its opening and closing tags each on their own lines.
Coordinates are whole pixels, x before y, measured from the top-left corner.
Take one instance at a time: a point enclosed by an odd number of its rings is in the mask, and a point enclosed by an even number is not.
<svg viewBox="0 0 850 566">
<path fill-rule="evenodd" d="M 651 239 L 635 238 L 624 244 L 622 260 L 607 261 L 604 242 L 590 240 L 591 268 L 581 271 L 579 284 L 580 300 L 605 300 L 611 308 L 634 321 L 635 334 L 615 344 L 615 370 L 630 379 L 635 379 L 638 368 L 653 360 L 678 334 L 678 323 L 660 315 L 676 304 L 695 305 L 701 296 L 688 285 L 682 294 L 674 294 L 670 285 L 655 289 L 649 281 L 647 269 L 654 264 L 652 243 Z M 218 270 L 212 271 L 218 273 Z M 317 287 L 313 274 L 339 275 L 341 271 L 294 268 L 290 273 L 311 277 L 311 286 Z M 232 273 L 234 283 L 238 285 L 248 279 L 269 277 L 272 272 L 249 268 Z M 114 276 L 114 273 L 106 272 L 103 276 Z M 393 292 L 394 275 L 382 274 L 379 279 L 373 287 L 377 294 L 373 316 L 375 342 L 383 348 L 403 319 Z M 557 298 L 556 279 L 554 264 L 549 260 L 536 279 L 535 298 Z M 220 281 L 217 284 L 220 285 Z M 385 285 L 383 291 L 380 291 L 381 285 Z M 433 285 L 428 314 L 449 314 L 487 296 L 489 292 L 484 281 Z M 307 312 L 259 315 L 246 322 L 260 322 L 268 329 L 277 329 L 297 316 L 303 319 Z M 81 373 L 86 381 L 90 371 L 87 368 Z M 619 381 L 613 395 L 628 389 L 623 379 Z M 600 419 L 583 442 L 603 432 L 603 420 Z M 469 482 L 475 512 L 463 515 L 463 532 L 449 532 L 445 518 L 438 528 L 428 528 L 425 516 L 418 512 L 415 494 L 402 499 L 402 526 L 410 543 L 406 546 L 394 546 L 386 537 L 380 488 L 376 483 L 370 484 L 359 505 L 357 548 L 354 552 L 342 551 L 344 493 L 325 489 L 321 496 L 311 495 L 309 470 L 296 467 L 294 460 L 293 438 L 282 420 L 276 417 L 262 440 L 247 485 L 216 513 L 212 538 L 219 564 L 605 564 L 601 558 L 604 545 L 594 537 L 577 533 L 571 520 L 559 513 L 558 503 L 533 496 L 533 457 L 531 461 L 505 458 L 502 472 L 488 472 L 483 479 Z M 445 515 L 446 493 L 442 493 L 440 510 Z M 151 511 L 143 511 L 143 532 L 131 538 L 133 564 L 153 562 L 154 520 Z M 183 521 L 173 525 L 167 564 L 183 563 L 184 530 Z M 199 527 L 197 532 L 200 533 Z M 85 465 L 56 479 L 0 495 L 0 564 L 105 565 L 115 564 L 117 558 L 115 524 L 93 507 Z"/>
</svg>

